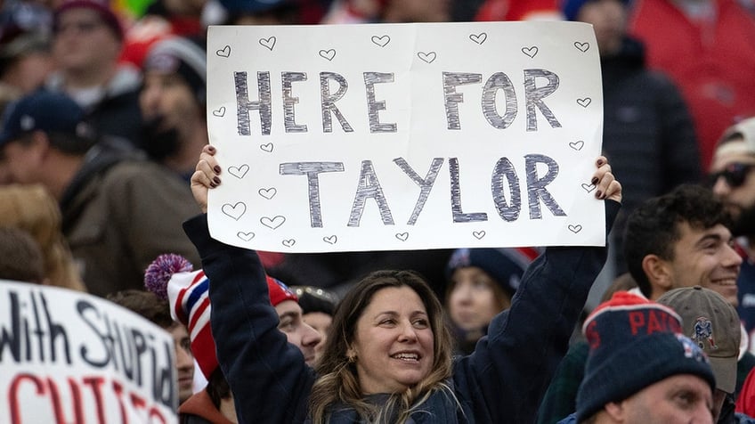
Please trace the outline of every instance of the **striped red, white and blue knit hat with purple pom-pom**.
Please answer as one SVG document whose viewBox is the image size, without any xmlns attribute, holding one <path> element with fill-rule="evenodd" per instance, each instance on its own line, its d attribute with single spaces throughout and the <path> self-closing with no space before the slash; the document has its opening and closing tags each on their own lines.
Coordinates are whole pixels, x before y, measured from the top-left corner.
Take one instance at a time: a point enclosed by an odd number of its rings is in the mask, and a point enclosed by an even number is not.
<svg viewBox="0 0 755 424">
<path fill-rule="evenodd" d="M 210 326 L 212 307 L 209 284 L 204 271 L 191 271 L 191 263 L 175 254 L 160 255 L 144 273 L 144 285 L 155 295 L 167 298 L 170 314 L 189 331 L 191 353 L 206 379 L 218 366 L 215 338 Z M 272 306 L 284 300 L 296 301 L 296 295 L 282 282 L 268 276 L 267 289 Z"/>
</svg>

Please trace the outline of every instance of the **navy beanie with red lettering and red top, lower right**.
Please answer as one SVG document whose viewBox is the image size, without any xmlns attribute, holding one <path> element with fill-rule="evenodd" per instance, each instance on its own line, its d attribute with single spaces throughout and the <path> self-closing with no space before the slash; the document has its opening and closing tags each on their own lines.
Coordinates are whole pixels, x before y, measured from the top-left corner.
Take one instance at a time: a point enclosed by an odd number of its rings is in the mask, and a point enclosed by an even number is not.
<svg viewBox="0 0 755 424">
<path fill-rule="evenodd" d="M 577 421 L 678 374 L 698 376 L 713 390 L 707 356 L 681 329 L 681 318 L 668 306 L 627 291 L 597 306 L 582 326 L 589 355 L 577 392 Z"/>
</svg>

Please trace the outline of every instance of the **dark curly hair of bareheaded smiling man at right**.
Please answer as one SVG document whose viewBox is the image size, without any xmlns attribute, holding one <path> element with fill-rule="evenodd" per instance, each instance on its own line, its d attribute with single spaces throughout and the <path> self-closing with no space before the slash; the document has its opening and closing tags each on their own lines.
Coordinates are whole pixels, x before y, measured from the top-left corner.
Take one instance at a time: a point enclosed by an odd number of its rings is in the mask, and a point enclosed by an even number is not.
<svg viewBox="0 0 755 424">
<path fill-rule="evenodd" d="M 624 257 L 637 287 L 650 297 L 652 287 L 642 268 L 647 255 L 674 259 L 674 243 L 681 237 L 680 224 L 708 229 L 718 224 L 731 228 L 731 216 L 713 192 L 700 185 L 682 184 L 673 191 L 645 200 L 627 219 Z"/>
</svg>

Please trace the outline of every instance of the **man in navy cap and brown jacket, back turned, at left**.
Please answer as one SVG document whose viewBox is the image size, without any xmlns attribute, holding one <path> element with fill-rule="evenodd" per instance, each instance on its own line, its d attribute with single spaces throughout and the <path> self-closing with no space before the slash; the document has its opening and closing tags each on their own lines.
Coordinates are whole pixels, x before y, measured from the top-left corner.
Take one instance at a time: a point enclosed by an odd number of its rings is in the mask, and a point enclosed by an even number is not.
<svg viewBox="0 0 755 424">
<path fill-rule="evenodd" d="M 0 183 L 41 183 L 61 206 L 62 231 L 88 291 L 141 289 L 166 251 L 199 264 L 181 223 L 198 208 L 189 186 L 119 140 L 102 139 L 64 94 L 12 103 L 0 133 Z"/>
</svg>

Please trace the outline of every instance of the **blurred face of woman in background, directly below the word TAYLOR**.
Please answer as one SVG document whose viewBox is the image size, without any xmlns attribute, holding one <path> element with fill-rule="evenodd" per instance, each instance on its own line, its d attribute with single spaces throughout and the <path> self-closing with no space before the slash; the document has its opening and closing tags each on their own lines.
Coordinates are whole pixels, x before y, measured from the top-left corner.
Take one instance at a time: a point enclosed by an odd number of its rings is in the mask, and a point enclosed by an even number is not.
<svg viewBox="0 0 755 424">
<path fill-rule="evenodd" d="M 477 266 L 457 268 L 451 274 L 451 284 L 449 316 L 461 330 L 483 329 L 496 314 L 510 306 L 510 300 L 508 305 L 500 304 L 495 292 L 498 283 Z"/>
</svg>

